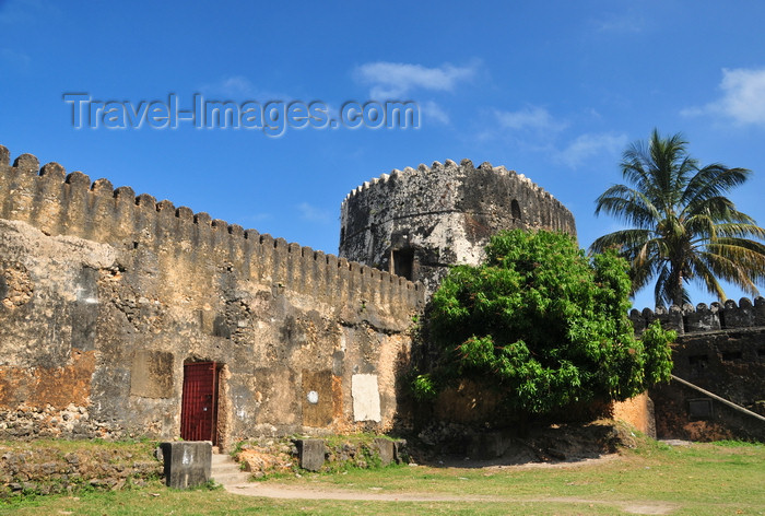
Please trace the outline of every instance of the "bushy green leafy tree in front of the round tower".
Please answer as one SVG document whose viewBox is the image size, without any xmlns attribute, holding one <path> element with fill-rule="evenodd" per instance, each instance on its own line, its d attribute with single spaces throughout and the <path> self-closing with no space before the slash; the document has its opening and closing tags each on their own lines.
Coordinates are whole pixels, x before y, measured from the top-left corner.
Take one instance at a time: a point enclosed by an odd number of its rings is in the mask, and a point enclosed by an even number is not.
<svg viewBox="0 0 765 516">
<path fill-rule="evenodd" d="M 624 400 L 669 379 L 672 332 L 636 340 L 631 282 L 615 253 L 591 261 L 563 233 L 502 232 L 480 267 L 458 266 L 427 317 L 436 363 L 413 383 L 421 398 L 463 378 L 496 389 L 510 411 Z"/>
</svg>

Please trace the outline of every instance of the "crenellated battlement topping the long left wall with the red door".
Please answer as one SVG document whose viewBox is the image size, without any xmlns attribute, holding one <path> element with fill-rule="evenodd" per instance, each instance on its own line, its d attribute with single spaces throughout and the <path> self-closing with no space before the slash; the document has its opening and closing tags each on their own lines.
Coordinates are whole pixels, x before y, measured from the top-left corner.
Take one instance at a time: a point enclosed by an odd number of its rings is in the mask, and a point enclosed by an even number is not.
<svg viewBox="0 0 765 516">
<path fill-rule="evenodd" d="M 120 249 L 145 249 L 189 263 L 214 260 L 239 278 L 333 303 L 378 302 L 409 309 L 424 302 L 422 285 L 310 247 L 193 213 L 168 200 L 108 179 L 67 174 L 58 163 L 40 168 L 32 154 L 0 145 L 0 219 L 26 222 L 47 235 L 67 235 Z"/>
</svg>

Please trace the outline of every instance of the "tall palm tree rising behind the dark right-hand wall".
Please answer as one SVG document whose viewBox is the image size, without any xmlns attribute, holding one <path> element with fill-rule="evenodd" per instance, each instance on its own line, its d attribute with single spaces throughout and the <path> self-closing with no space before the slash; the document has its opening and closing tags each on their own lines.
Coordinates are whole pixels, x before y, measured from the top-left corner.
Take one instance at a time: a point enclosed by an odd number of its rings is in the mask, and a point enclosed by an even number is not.
<svg viewBox="0 0 765 516">
<path fill-rule="evenodd" d="M 678 133 L 654 129 L 646 144 L 629 145 L 622 157 L 624 180 L 597 199 L 601 211 L 632 226 L 596 239 L 590 249 L 616 247 L 632 267 L 633 293 L 656 277 L 657 305 L 690 302 L 686 283 L 696 281 L 720 301 L 718 279 L 757 295 L 765 279 L 765 230 L 735 209 L 727 192 L 751 171 L 714 163 L 699 168 Z"/>
</svg>

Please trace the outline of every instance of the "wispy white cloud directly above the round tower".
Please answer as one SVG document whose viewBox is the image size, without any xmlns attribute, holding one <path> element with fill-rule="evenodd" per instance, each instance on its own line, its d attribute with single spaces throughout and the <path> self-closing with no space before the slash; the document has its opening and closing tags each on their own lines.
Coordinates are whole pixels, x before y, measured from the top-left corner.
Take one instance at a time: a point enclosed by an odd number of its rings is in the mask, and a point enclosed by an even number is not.
<svg viewBox="0 0 765 516">
<path fill-rule="evenodd" d="M 446 63 L 426 68 L 422 64 L 377 61 L 356 67 L 353 74 L 360 83 L 372 86 L 372 98 L 381 101 L 401 99 L 415 89 L 448 92 L 458 82 L 471 79 L 475 71 L 475 66 L 455 67 Z"/>
</svg>

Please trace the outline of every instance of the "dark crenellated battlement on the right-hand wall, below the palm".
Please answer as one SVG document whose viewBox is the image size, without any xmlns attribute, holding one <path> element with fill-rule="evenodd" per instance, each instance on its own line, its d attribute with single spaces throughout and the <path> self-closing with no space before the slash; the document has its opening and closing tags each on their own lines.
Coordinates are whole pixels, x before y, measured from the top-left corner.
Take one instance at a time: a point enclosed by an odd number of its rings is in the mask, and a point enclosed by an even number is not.
<svg viewBox="0 0 765 516">
<path fill-rule="evenodd" d="M 758 296 L 754 303 L 749 297 L 741 297 L 738 304 L 728 300 L 725 303 L 711 303 L 709 306 L 699 303 L 694 307 L 686 303 L 682 307 L 658 306 L 656 309 L 644 308 L 643 312 L 633 308 L 629 319 L 638 335 L 655 320 L 659 320 L 664 329 L 672 329 L 678 335 L 761 327 L 765 326 L 765 297 Z"/>
</svg>

